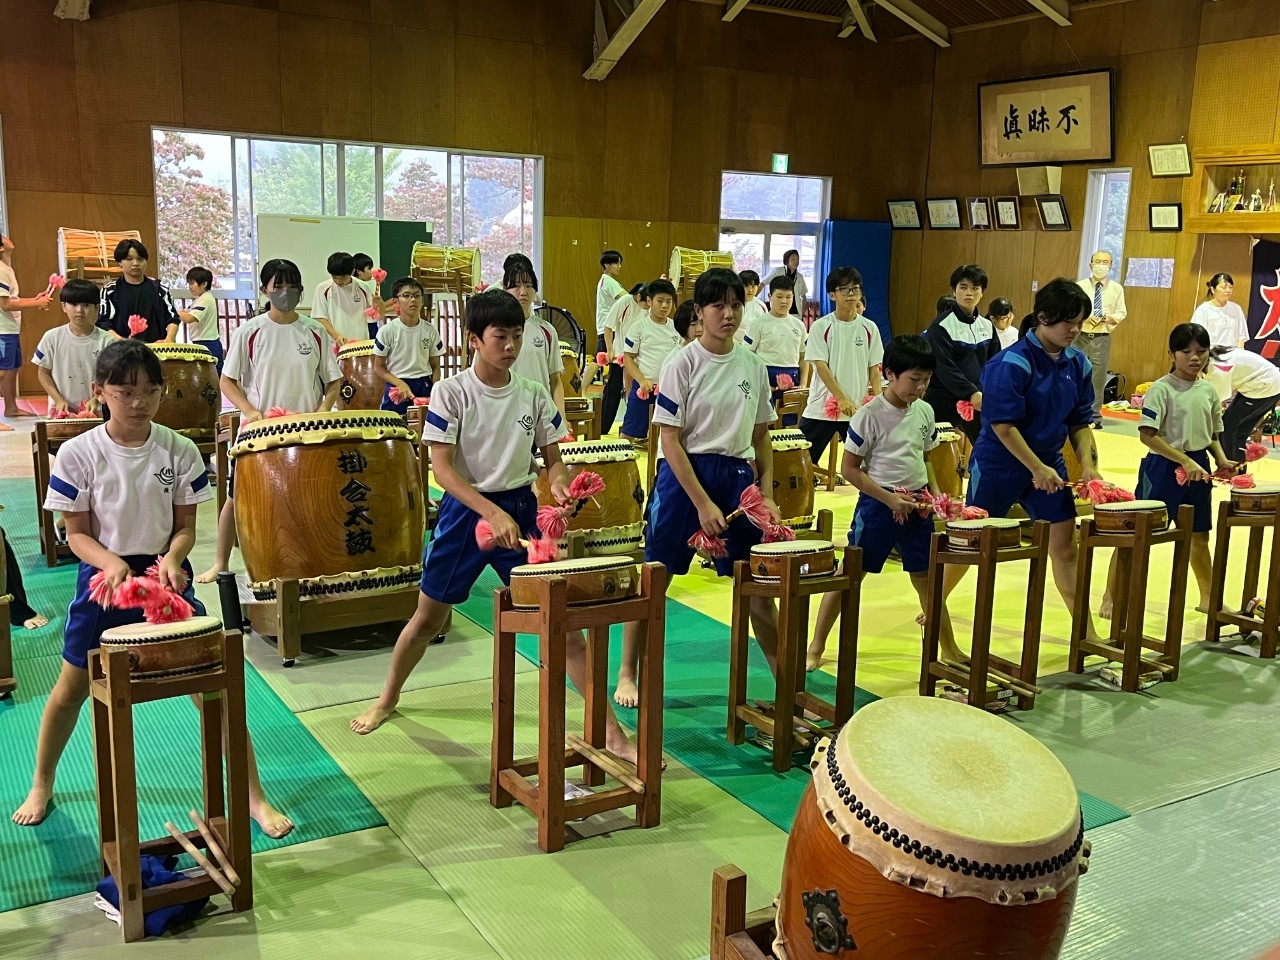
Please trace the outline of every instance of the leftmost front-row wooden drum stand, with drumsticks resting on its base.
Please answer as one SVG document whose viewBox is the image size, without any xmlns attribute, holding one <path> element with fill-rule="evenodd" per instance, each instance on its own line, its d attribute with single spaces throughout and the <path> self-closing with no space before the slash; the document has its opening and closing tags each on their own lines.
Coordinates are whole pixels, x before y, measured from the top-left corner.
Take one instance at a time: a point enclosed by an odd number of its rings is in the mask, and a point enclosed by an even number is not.
<svg viewBox="0 0 1280 960">
<path fill-rule="evenodd" d="M 138 782 L 133 749 L 134 704 L 170 696 L 200 696 L 200 751 L 204 771 L 204 819 L 227 851 L 241 884 L 230 895 L 232 910 L 253 906 L 248 819 L 248 730 L 244 726 L 244 646 L 238 632 L 223 634 L 219 669 L 161 680 L 132 680 L 129 652 L 93 650 L 88 662 L 93 698 L 93 758 L 97 768 L 97 819 L 104 876 L 115 878 L 120 893 L 124 941 L 142 940 L 143 914 L 220 892 L 211 877 L 192 877 L 142 888 L 140 858 L 182 854 L 174 837 L 138 838 Z M 225 746 L 224 733 L 225 731 Z M 223 764 L 227 795 L 223 796 Z M 198 831 L 186 833 L 207 849 Z"/>
</svg>

